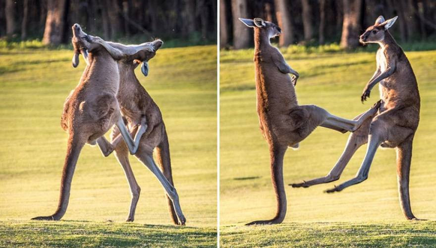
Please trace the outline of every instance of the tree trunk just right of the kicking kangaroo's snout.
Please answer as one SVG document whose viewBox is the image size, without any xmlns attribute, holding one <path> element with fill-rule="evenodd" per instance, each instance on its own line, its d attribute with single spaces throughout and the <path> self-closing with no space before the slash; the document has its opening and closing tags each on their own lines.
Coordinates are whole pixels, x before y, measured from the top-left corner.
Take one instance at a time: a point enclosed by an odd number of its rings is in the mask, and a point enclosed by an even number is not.
<svg viewBox="0 0 436 248">
<path fill-rule="evenodd" d="M 278 44 L 281 47 L 289 46 L 294 42 L 294 32 L 286 0 L 274 0 L 274 5 L 278 26 L 282 30 Z"/>
</svg>

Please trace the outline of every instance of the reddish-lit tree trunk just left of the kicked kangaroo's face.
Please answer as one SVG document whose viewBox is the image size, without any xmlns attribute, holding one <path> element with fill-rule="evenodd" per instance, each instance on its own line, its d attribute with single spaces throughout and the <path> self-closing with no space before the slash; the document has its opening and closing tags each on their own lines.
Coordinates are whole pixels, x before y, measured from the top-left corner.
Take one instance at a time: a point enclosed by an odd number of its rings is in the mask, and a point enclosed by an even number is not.
<svg viewBox="0 0 436 248">
<path fill-rule="evenodd" d="M 343 0 L 344 20 L 340 46 L 353 49 L 359 45 L 362 0 Z"/>
</svg>

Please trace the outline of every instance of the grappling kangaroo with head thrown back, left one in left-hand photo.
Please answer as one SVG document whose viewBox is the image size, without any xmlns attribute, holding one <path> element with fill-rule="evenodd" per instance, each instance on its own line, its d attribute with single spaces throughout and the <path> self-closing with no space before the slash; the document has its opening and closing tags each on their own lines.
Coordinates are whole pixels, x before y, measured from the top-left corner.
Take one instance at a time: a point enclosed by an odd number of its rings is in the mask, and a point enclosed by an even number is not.
<svg viewBox="0 0 436 248">
<path fill-rule="evenodd" d="M 74 48 L 72 64 L 74 67 L 78 65 L 80 53 L 88 65 L 79 84 L 67 97 L 61 117 L 61 126 L 68 132 L 69 137 L 59 204 L 53 215 L 35 217 L 34 220 L 59 220 L 65 214 L 74 169 L 85 143 L 95 145 L 97 142 L 99 144 L 108 142 L 103 135 L 115 124 L 126 141 L 129 151 L 135 153 L 138 149 L 139 140 L 135 141 L 130 137 L 116 100 L 119 72 L 113 57 L 119 60 L 126 55 L 111 46 L 100 45 L 101 38 L 87 35 L 79 24 L 72 26 L 72 32 L 71 41 Z M 108 49 L 111 50 L 111 55 Z"/>
</svg>

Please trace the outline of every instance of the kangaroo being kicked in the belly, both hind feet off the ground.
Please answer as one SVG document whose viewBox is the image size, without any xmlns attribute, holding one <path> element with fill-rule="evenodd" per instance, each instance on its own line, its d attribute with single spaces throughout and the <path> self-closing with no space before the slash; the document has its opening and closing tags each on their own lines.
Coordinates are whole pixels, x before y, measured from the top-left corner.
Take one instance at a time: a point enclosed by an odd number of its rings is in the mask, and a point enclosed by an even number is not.
<svg viewBox="0 0 436 248">
<path fill-rule="evenodd" d="M 363 44 L 380 45 L 376 56 L 377 70 L 366 84 L 361 96 L 363 103 L 370 97 L 371 89 L 379 83 L 381 107 L 378 113 L 366 119 L 362 126 L 349 136 L 345 150 L 327 176 L 292 184 L 292 186 L 308 187 L 338 180 L 356 150 L 363 144 L 369 143 L 365 159 L 356 177 L 326 190 L 328 193 L 341 191 L 368 178 L 371 163 L 379 146 L 395 148 L 401 210 L 406 219 L 418 220 L 410 207 L 409 172 L 412 141 L 418 128 L 421 100 L 412 66 L 388 31 L 396 19 L 397 16 L 385 21 L 383 16 L 379 16 L 376 23 L 360 36 L 360 42 Z"/>
</svg>

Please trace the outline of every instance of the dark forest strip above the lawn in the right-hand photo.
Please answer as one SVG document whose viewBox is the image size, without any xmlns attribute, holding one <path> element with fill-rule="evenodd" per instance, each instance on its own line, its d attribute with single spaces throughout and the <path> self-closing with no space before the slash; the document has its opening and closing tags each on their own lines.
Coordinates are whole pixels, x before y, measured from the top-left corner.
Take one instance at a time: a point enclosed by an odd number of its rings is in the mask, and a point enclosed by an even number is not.
<svg viewBox="0 0 436 248">
<path fill-rule="evenodd" d="M 336 42 L 360 46 L 358 37 L 379 15 L 398 16 L 389 29 L 399 42 L 434 42 L 436 0 L 219 0 L 222 47 L 253 46 L 252 31 L 238 17 L 260 17 L 282 29 L 280 46 Z"/>
</svg>

